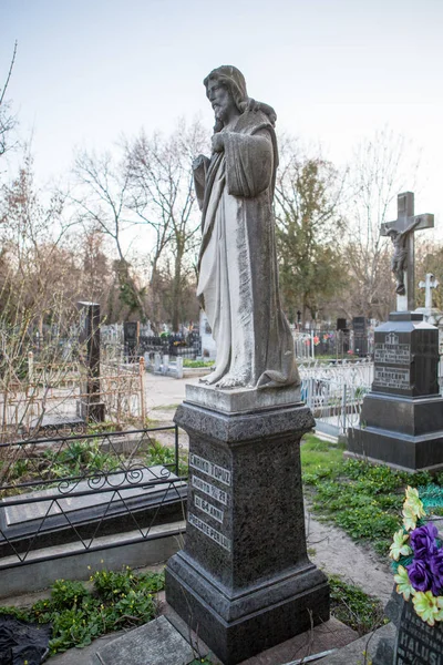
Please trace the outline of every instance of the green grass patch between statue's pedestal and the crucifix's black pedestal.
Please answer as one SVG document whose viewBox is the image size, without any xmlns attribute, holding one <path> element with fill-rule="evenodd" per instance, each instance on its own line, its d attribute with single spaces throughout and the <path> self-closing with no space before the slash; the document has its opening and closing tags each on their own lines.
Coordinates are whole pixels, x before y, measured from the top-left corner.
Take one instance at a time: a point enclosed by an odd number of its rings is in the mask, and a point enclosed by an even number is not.
<svg viewBox="0 0 443 665">
<path fill-rule="evenodd" d="M 431 483 L 429 473 L 409 474 L 364 461 L 344 460 L 342 449 L 313 434 L 303 438 L 301 469 L 311 510 L 351 538 L 385 555 L 401 523 L 408 484 Z M 433 479 L 442 484 L 443 474 Z"/>
</svg>

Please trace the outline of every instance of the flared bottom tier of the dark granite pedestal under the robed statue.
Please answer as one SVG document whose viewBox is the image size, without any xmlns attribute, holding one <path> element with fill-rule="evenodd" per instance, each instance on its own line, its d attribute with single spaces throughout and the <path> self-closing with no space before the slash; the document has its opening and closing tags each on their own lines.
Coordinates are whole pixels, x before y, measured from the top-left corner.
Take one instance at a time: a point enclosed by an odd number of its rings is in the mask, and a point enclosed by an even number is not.
<svg viewBox="0 0 443 665">
<path fill-rule="evenodd" d="M 329 620 L 329 585 L 309 562 L 233 593 L 178 552 L 166 567 L 166 597 L 225 665 Z"/>
</svg>

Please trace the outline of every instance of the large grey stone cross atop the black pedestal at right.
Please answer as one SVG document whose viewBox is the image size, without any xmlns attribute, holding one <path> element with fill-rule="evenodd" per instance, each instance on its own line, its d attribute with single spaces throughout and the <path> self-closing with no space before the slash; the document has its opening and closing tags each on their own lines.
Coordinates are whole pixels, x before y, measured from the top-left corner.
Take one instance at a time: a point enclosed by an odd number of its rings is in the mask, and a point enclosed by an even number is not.
<svg viewBox="0 0 443 665">
<path fill-rule="evenodd" d="M 434 215 L 414 215 L 414 195 L 412 192 L 403 192 L 396 197 L 396 219 L 394 222 L 385 222 L 381 225 L 380 234 L 387 236 L 390 232 L 396 232 L 400 236 L 403 232 L 408 232 L 405 242 L 405 257 L 402 260 L 401 270 L 403 270 L 404 291 L 398 293 L 396 310 L 412 311 L 414 304 L 414 232 L 421 228 L 432 228 L 434 226 Z M 395 248 L 395 253 L 398 249 Z M 394 253 L 393 263 L 396 258 Z M 394 265 L 392 266 L 393 272 Z"/>
</svg>

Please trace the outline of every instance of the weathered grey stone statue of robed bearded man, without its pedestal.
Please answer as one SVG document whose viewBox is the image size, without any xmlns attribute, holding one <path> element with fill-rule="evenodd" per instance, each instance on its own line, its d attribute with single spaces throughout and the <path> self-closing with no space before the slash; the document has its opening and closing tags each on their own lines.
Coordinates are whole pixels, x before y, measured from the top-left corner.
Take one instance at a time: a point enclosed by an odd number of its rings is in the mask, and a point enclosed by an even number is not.
<svg viewBox="0 0 443 665">
<path fill-rule="evenodd" d="M 223 65 L 205 79 L 215 113 L 213 153 L 194 181 L 203 213 L 197 296 L 217 345 L 218 388 L 300 382 L 292 335 L 281 311 L 272 197 L 276 114 L 248 98 L 245 78 Z"/>
</svg>

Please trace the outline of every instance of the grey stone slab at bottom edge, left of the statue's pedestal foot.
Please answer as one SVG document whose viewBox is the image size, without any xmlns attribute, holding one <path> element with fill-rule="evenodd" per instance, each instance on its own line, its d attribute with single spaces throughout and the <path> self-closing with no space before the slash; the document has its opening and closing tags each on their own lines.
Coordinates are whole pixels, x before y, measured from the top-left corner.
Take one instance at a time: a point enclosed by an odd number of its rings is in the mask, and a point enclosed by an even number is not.
<svg viewBox="0 0 443 665">
<path fill-rule="evenodd" d="M 194 652 L 165 616 L 101 647 L 90 665 L 187 665 Z"/>
</svg>

